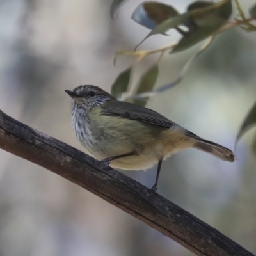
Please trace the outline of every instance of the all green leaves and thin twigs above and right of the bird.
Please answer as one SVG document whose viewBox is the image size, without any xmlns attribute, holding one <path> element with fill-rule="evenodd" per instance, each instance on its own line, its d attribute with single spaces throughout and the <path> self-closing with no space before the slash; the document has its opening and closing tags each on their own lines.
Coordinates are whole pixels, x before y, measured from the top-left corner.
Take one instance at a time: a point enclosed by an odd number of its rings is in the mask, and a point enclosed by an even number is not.
<svg viewBox="0 0 256 256">
<path fill-rule="evenodd" d="M 123 1 L 113 1 L 111 13 L 114 13 L 116 8 L 118 8 L 122 2 Z M 134 64 L 129 68 L 130 81 L 131 70 L 138 61 L 143 60 L 150 54 L 159 53 L 160 56 L 157 63 L 141 76 L 135 95 L 130 95 L 129 97 L 126 97 L 125 100 L 133 101 L 134 104 L 145 106 L 149 97 L 169 90 L 173 86 L 179 84 L 182 77 L 185 76 L 191 62 L 195 60 L 198 54 L 204 51 L 209 44 L 211 44 L 212 39 L 219 33 L 223 33 L 231 28 L 236 28 L 237 26 L 240 26 L 244 31 L 256 31 L 256 26 L 252 23 L 256 19 L 256 4 L 248 10 L 250 17 L 246 17 L 239 0 L 234 0 L 237 13 L 235 13 L 236 17 L 233 20 L 229 20 L 232 15 L 232 2 L 232 0 L 222 0 L 217 3 L 212 1 L 195 1 L 189 4 L 186 12 L 182 14 L 168 4 L 154 1 L 141 3 L 132 13 L 131 19 L 151 31 L 140 44 L 135 47 L 134 52 L 116 52 L 115 61 L 118 56 L 134 56 L 134 58 L 136 58 Z M 186 28 L 185 30 L 184 27 Z M 157 34 L 166 35 L 166 32 L 170 29 L 176 29 L 182 35 L 182 38 L 176 44 L 167 45 L 153 51 L 136 51 L 138 46 L 150 36 Z M 202 45 L 200 50 L 186 62 L 186 65 L 182 68 L 177 79 L 170 84 L 164 84 L 159 88 L 154 89 L 159 74 L 157 65 L 166 51 L 169 51 L 172 54 L 184 51 L 206 38 L 209 38 L 209 40 L 206 41 L 205 45 Z M 126 74 L 126 72 L 127 70 L 122 72 L 112 86 L 111 92 L 119 99 L 122 97 L 123 92 L 127 92 L 129 81 L 125 81 L 124 74 Z M 236 141 L 238 141 L 239 138 L 253 126 L 256 126 L 256 104 L 244 119 L 239 134 L 237 134 Z M 256 138 L 253 143 L 253 148 L 256 152 Z"/>
</svg>

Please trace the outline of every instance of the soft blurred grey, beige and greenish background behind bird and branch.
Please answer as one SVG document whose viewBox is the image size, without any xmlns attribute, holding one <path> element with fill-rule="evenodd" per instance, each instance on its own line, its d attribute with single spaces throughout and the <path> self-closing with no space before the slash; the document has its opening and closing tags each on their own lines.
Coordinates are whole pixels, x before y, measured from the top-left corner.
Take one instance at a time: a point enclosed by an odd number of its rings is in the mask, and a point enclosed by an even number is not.
<svg viewBox="0 0 256 256">
<path fill-rule="evenodd" d="M 94 84 L 110 92 L 116 76 L 148 29 L 133 22 L 142 1 L 130 0 L 111 20 L 111 0 L 0 1 L 0 109 L 20 122 L 83 148 L 70 124 L 64 90 Z M 180 12 L 193 2 L 162 1 Z M 170 3 L 172 2 L 172 3 Z M 254 1 L 243 0 L 248 10 Z M 179 35 L 152 36 L 140 49 L 176 42 Z M 255 102 L 256 36 L 240 28 L 219 35 L 172 90 L 147 107 L 207 140 L 234 149 L 241 122 Z M 198 45 L 167 54 L 157 86 L 175 79 Z M 136 67 L 134 84 L 156 60 Z M 255 131 L 254 131 L 255 132 Z M 157 193 L 256 253 L 256 172 L 250 150 L 253 131 L 239 142 L 236 162 L 225 163 L 198 150 L 163 163 Z M 145 186 L 156 168 L 124 172 Z M 168 237 L 58 175 L 0 150 L 0 256 L 193 255 Z"/>
</svg>

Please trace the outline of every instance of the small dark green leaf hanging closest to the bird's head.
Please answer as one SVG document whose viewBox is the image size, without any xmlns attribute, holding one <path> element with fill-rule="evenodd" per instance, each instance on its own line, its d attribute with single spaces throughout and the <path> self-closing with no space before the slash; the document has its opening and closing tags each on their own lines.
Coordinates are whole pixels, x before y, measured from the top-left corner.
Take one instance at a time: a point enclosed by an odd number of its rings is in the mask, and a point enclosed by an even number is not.
<svg viewBox="0 0 256 256">
<path fill-rule="evenodd" d="M 127 92 L 131 79 L 131 70 L 132 68 L 130 67 L 121 72 L 111 86 L 111 94 L 117 99 L 121 97 L 123 92 Z"/>
</svg>

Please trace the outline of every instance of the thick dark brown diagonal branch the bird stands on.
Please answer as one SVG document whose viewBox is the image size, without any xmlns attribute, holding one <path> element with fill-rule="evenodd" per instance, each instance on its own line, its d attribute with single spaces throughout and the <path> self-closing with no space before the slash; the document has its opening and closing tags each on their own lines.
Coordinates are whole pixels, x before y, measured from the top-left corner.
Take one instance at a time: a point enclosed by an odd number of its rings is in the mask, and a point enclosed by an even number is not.
<svg viewBox="0 0 256 256">
<path fill-rule="evenodd" d="M 196 255 L 253 256 L 179 206 L 76 148 L 0 111 L 0 148 L 38 164 L 147 223 Z"/>
</svg>

